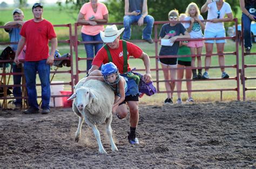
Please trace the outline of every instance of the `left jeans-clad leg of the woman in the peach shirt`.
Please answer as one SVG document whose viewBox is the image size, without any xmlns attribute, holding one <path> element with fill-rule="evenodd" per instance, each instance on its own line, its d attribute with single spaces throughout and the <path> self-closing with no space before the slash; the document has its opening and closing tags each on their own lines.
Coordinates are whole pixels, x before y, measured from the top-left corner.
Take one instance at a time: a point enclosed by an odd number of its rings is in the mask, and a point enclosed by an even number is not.
<svg viewBox="0 0 256 169">
<path fill-rule="evenodd" d="M 82 39 L 83 41 L 93 41 L 93 36 L 91 35 L 86 35 L 85 33 L 81 33 L 82 34 Z M 84 44 L 85 47 L 85 51 L 86 51 L 86 56 L 87 59 L 86 63 L 87 63 L 87 68 L 86 70 L 89 71 L 89 69 L 91 69 L 91 65 L 92 65 L 92 60 L 94 57 L 94 52 L 93 52 L 93 44 Z"/>
</svg>

